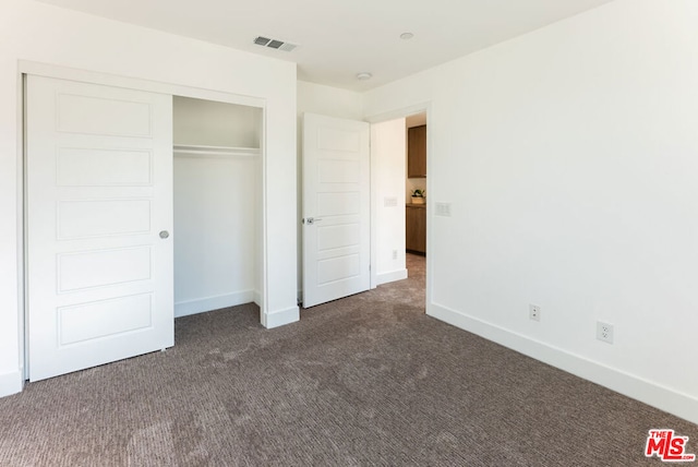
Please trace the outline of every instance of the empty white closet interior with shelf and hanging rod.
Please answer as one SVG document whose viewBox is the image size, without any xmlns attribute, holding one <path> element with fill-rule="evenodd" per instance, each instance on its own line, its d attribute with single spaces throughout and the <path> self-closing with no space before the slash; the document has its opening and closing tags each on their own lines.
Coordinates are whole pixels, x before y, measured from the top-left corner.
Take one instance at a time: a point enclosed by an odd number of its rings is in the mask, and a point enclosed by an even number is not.
<svg viewBox="0 0 698 467">
<path fill-rule="evenodd" d="M 172 107 L 174 316 L 261 304 L 263 109 Z"/>
</svg>

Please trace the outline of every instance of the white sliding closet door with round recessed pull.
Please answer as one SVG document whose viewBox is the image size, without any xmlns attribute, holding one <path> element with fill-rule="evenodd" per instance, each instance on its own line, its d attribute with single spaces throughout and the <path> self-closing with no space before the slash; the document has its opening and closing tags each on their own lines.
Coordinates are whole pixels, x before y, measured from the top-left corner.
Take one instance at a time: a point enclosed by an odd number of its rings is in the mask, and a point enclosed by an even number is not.
<svg viewBox="0 0 698 467">
<path fill-rule="evenodd" d="M 172 98 L 27 76 L 29 379 L 171 347 Z"/>
</svg>

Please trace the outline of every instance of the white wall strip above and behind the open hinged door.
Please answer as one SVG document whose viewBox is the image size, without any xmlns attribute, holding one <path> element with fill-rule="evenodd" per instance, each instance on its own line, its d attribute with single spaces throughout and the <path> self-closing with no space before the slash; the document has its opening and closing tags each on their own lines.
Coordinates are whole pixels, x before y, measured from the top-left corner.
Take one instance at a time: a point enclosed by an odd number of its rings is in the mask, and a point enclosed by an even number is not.
<svg viewBox="0 0 698 467">
<path fill-rule="evenodd" d="M 345 118 L 349 120 L 362 120 L 363 107 L 361 94 L 352 91 L 339 89 L 332 86 L 324 86 L 322 84 L 308 83 L 299 81 L 297 86 L 298 92 L 298 300 L 302 298 L 302 225 L 300 218 L 302 217 L 303 206 L 301 191 L 303 187 L 303 180 L 301 175 L 303 173 L 303 113 L 320 113 L 327 117 Z"/>
</svg>

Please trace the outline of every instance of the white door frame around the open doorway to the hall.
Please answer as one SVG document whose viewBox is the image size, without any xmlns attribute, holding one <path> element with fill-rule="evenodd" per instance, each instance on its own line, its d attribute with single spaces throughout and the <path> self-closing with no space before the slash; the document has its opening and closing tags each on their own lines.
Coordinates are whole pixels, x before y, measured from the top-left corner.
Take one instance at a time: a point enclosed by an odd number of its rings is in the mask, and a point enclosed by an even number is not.
<svg viewBox="0 0 698 467">
<path fill-rule="evenodd" d="M 432 135 L 431 135 L 431 115 L 432 115 L 432 104 L 431 101 L 424 101 L 421 104 L 416 104 L 413 106 L 404 107 L 400 109 L 392 110 L 389 112 L 377 113 L 373 116 L 364 117 L 364 120 L 369 123 L 381 123 L 384 121 L 390 121 L 398 118 L 407 118 L 414 113 L 426 113 L 426 154 L 431 154 L 432 149 Z M 406 134 L 407 137 L 407 134 Z M 426 173 L 432 173 L 432 158 L 426 157 Z M 378 184 L 377 181 L 377 169 L 376 169 L 376 158 L 373 153 L 373 147 L 371 147 L 371 288 L 374 289 L 377 287 L 377 271 L 375 266 L 375 259 L 377 258 L 377 213 L 374 206 L 376 206 L 377 193 L 376 187 Z M 407 175 L 407 172 L 406 172 Z M 426 179 L 426 187 L 429 191 L 429 178 Z M 431 220 L 430 216 L 426 216 L 426 251 L 431 251 Z M 425 284 L 425 303 L 424 310 L 426 310 L 426 303 L 431 302 L 432 295 L 432 255 L 426 255 L 426 284 Z"/>
</svg>

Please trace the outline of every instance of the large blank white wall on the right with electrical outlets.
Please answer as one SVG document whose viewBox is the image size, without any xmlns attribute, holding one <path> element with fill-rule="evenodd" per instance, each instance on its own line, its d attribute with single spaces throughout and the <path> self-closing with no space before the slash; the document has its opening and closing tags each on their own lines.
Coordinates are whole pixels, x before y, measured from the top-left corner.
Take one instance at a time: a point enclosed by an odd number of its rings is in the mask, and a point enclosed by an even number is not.
<svg viewBox="0 0 698 467">
<path fill-rule="evenodd" d="M 429 219 L 429 314 L 694 422 L 697 22 L 618 0 L 364 101 L 431 103 L 428 201 L 452 217 Z"/>
</svg>

